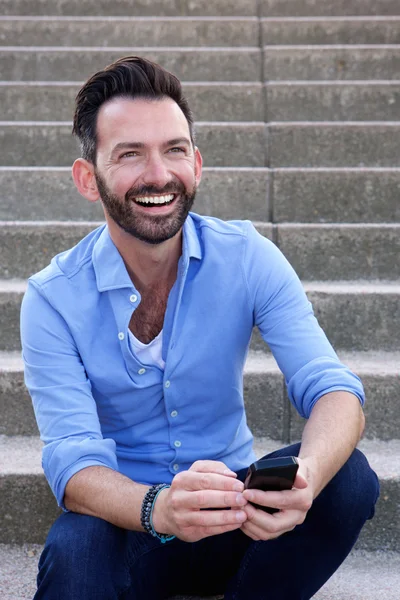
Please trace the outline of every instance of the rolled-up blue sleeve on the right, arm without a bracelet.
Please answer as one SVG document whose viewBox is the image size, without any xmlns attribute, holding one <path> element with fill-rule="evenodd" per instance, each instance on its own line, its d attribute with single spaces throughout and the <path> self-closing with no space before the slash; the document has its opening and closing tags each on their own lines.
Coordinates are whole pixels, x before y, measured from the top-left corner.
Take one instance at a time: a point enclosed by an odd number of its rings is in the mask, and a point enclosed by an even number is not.
<svg viewBox="0 0 400 600">
<path fill-rule="evenodd" d="M 340 362 L 295 271 L 251 224 L 244 257 L 254 325 L 284 374 L 299 414 L 308 418 L 321 396 L 339 390 L 354 394 L 363 404 L 359 377 Z"/>
</svg>

